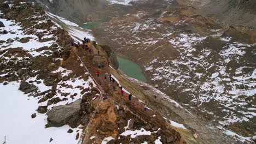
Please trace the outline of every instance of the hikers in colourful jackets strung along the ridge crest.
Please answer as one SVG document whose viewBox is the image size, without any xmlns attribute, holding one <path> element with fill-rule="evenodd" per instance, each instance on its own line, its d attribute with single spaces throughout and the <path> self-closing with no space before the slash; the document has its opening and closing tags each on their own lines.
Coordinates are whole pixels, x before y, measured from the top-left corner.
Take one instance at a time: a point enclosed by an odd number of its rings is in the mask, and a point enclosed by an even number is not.
<svg viewBox="0 0 256 144">
<path fill-rule="evenodd" d="M 87 45 L 87 43 L 90 43 L 90 39 L 89 39 L 89 38 L 84 38 L 84 39 L 82 40 L 82 42 L 83 42 L 83 44 L 80 45 L 80 42 L 78 41 L 78 44 L 76 45 L 73 41 L 71 41 L 71 44 L 72 44 L 72 46 L 75 45 L 75 46 L 80 47 L 80 48 L 82 48 L 82 49 L 85 49 L 86 51 L 89 51 L 89 52 L 91 53 L 91 48 Z M 100 56 L 100 50 L 98 50 L 98 56 Z M 109 66 L 109 62 L 108 62 L 108 66 Z M 96 71 L 97 77 L 100 77 L 100 74 L 101 74 L 100 69 L 101 69 L 101 68 L 104 69 L 104 65 L 101 64 L 101 63 L 98 63 L 98 70 Z M 113 89 L 115 89 L 115 85 L 114 85 L 115 79 L 112 77 L 111 74 L 109 74 L 108 76 L 109 76 L 110 82 L 112 82 Z M 106 80 L 106 79 L 107 79 L 107 76 L 105 75 L 104 78 L 105 78 L 105 80 Z M 121 93 L 122 96 L 124 96 L 124 89 L 123 89 L 123 86 L 119 86 L 119 83 L 117 83 L 117 87 L 120 88 L 120 93 Z M 130 94 L 128 95 L 128 99 L 131 100 L 131 98 L 132 98 L 132 94 L 130 93 Z M 146 111 L 146 110 L 147 110 L 147 106 L 145 105 L 145 106 L 144 106 L 144 111 Z"/>
</svg>

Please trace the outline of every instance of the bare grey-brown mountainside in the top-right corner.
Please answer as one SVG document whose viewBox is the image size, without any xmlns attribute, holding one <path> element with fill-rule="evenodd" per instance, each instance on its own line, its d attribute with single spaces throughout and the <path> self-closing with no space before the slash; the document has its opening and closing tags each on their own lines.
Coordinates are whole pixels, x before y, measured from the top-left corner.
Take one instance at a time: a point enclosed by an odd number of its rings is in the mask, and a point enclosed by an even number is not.
<svg viewBox="0 0 256 144">
<path fill-rule="evenodd" d="M 214 14 L 220 21 L 232 25 L 256 28 L 256 1 L 254 0 L 202 0 L 202 14 Z"/>
</svg>

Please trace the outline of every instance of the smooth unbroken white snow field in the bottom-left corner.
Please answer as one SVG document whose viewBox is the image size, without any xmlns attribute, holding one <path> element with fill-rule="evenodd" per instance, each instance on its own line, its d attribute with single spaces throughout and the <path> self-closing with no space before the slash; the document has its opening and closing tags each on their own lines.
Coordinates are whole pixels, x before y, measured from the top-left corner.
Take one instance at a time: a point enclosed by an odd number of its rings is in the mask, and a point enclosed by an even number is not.
<svg viewBox="0 0 256 144">
<path fill-rule="evenodd" d="M 1 101 L 0 101 L 0 140 L 6 143 L 76 143 L 75 135 L 77 133 L 67 133 L 68 129 L 72 129 L 68 125 L 60 128 L 45 128 L 47 123 L 46 114 L 37 113 L 37 99 L 28 97 L 19 91 L 19 82 L 10 82 L 4 86 L 0 83 Z M 36 113 L 35 118 L 31 115 Z M 74 131 L 81 129 L 73 129 Z"/>
</svg>

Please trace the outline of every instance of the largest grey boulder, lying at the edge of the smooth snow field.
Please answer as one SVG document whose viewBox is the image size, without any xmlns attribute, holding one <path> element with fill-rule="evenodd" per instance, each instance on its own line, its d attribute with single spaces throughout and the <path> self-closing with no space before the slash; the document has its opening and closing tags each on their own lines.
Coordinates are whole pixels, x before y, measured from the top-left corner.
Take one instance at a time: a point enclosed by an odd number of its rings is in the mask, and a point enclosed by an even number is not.
<svg viewBox="0 0 256 144">
<path fill-rule="evenodd" d="M 72 117 L 79 115 L 81 110 L 81 99 L 74 101 L 71 104 L 55 106 L 47 112 L 48 126 L 61 127 L 65 125 Z"/>
</svg>

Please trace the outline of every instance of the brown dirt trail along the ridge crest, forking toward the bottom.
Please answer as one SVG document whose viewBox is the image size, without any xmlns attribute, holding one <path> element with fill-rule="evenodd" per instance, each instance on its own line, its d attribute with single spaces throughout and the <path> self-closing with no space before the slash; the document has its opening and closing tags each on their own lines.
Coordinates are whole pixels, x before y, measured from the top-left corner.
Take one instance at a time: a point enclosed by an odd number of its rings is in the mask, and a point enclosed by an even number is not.
<svg viewBox="0 0 256 144">
<path fill-rule="evenodd" d="M 97 46 L 97 48 L 95 48 L 92 43 L 89 43 L 88 46 L 92 49 L 91 54 L 89 53 L 89 51 L 86 51 L 80 47 L 74 48 L 77 50 L 78 58 L 80 59 L 80 61 L 82 61 L 82 63 L 84 63 L 84 65 L 86 65 L 85 67 L 89 70 L 89 73 L 92 75 L 92 77 L 95 77 L 95 80 L 99 85 L 98 87 L 101 87 L 102 92 L 104 93 L 103 95 L 100 95 L 102 98 L 97 98 L 98 100 L 95 99 L 96 101 L 98 101 L 98 105 L 95 109 L 94 114 L 90 117 L 89 124 L 85 124 L 85 130 L 79 143 L 89 142 L 89 135 L 90 133 L 92 133 L 92 131 L 96 130 L 97 119 L 100 117 L 100 114 L 97 113 L 98 106 L 101 107 L 101 105 L 105 103 L 105 101 L 113 106 L 125 107 L 126 111 L 129 111 L 133 116 L 141 119 L 141 121 L 143 121 L 144 123 L 155 123 L 161 130 L 170 129 L 170 124 L 166 122 L 166 120 L 160 115 L 160 113 L 153 111 L 152 109 L 147 109 L 147 111 L 144 111 L 144 103 L 142 101 L 137 99 L 135 96 L 133 96 L 132 99 L 129 100 L 129 93 L 124 92 L 123 95 L 121 94 L 119 83 L 117 81 L 113 82 L 109 80 L 108 75 L 110 74 L 112 68 L 107 66 L 107 62 L 103 63 L 103 69 L 98 68 L 97 64 L 92 62 L 94 56 L 97 56 L 97 50 L 100 50 L 100 56 L 102 57 L 107 57 L 107 54 L 100 46 Z M 97 77 L 96 74 L 97 70 L 100 70 L 101 72 L 99 77 Z M 115 89 L 113 88 L 113 86 L 115 86 Z"/>
</svg>

